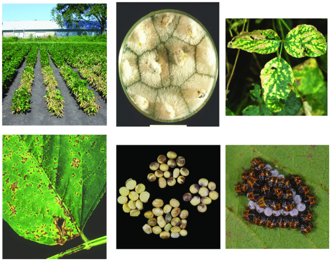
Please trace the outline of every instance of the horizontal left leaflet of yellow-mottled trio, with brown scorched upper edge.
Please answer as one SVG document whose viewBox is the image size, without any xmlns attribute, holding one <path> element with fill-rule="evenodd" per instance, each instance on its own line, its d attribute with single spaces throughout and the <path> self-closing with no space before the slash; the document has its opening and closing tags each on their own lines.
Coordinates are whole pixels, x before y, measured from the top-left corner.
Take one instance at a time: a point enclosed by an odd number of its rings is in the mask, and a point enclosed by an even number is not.
<svg viewBox="0 0 331 261">
<path fill-rule="evenodd" d="M 273 30 L 268 29 L 251 33 L 241 32 L 228 42 L 227 47 L 242 49 L 250 53 L 270 54 L 277 51 L 279 44 L 279 36 Z"/>
</svg>

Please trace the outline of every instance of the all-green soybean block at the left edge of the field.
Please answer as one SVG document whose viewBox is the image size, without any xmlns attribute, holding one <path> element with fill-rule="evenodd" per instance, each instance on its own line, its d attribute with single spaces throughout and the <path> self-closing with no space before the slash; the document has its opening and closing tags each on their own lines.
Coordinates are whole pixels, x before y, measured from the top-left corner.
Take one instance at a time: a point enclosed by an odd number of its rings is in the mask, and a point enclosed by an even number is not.
<svg viewBox="0 0 331 261">
<path fill-rule="evenodd" d="M 8 87 L 13 79 L 16 69 L 28 54 L 31 44 L 3 43 L 2 44 L 2 90 Z"/>
</svg>

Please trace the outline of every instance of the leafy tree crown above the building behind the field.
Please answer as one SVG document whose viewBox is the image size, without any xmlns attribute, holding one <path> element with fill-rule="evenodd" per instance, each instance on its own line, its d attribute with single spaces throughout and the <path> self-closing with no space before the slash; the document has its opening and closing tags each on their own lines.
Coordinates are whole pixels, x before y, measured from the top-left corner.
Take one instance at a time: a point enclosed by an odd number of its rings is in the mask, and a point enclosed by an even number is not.
<svg viewBox="0 0 331 261">
<path fill-rule="evenodd" d="M 102 34 L 106 34 L 107 4 L 65 4 L 58 3 L 52 9 L 52 20 L 63 27 L 64 23 L 69 26 L 75 25 L 80 28 L 79 21 L 84 20 L 89 24 L 99 27 Z M 97 20 L 99 23 L 95 23 Z"/>
</svg>

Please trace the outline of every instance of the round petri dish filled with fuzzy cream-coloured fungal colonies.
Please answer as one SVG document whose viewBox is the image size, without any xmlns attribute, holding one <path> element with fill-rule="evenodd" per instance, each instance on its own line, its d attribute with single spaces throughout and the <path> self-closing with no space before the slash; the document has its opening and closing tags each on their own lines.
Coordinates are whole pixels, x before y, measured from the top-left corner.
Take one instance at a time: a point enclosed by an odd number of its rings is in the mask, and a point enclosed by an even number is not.
<svg viewBox="0 0 331 261">
<path fill-rule="evenodd" d="M 163 122 L 184 120 L 213 93 L 216 47 L 192 16 L 169 9 L 152 12 L 126 35 L 119 74 L 126 96 L 139 112 Z"/>
</svg>

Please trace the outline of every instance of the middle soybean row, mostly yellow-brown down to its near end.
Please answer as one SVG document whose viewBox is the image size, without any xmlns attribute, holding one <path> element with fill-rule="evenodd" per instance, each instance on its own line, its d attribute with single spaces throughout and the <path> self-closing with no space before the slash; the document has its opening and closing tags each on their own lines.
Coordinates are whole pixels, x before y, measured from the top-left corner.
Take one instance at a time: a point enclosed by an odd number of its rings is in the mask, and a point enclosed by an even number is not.
<svg viewBox="0 0 331 261">
<path fill-rule="evenodd" d="M 47 109 L 52 115 L 56 117 L 63 117 L 63 97 L 61 96 L 60 91 L 56 89 L 58 86 L 57 81 L 53 75 L 53 69 L 50 66 L 50 60 L 48 57 L 48 52 L 44 44 L 40 44 L 40 63 L 41 63 L 41 73 L 43 75 L 43 83 L 46 86 L 47 94 L 46 103 Z"/>
</svg>

